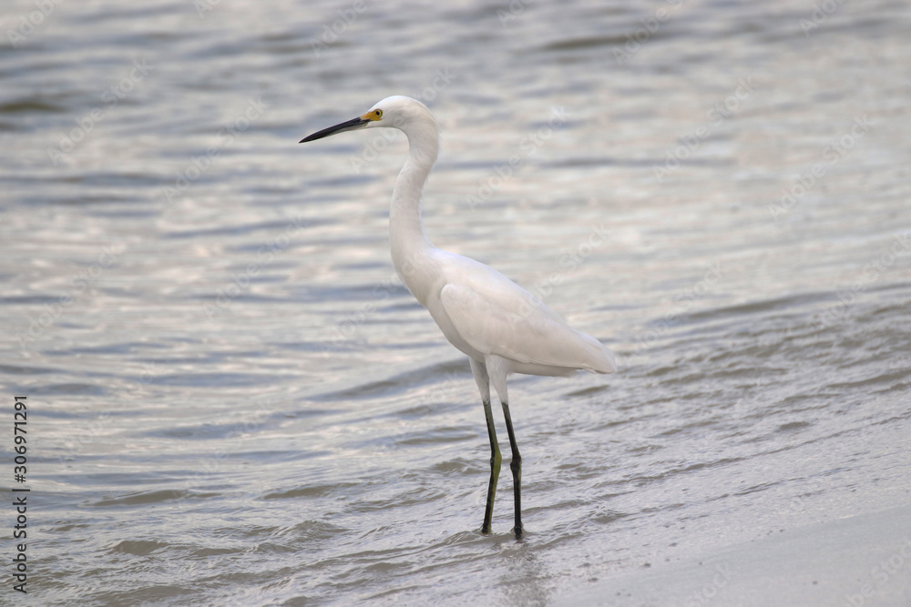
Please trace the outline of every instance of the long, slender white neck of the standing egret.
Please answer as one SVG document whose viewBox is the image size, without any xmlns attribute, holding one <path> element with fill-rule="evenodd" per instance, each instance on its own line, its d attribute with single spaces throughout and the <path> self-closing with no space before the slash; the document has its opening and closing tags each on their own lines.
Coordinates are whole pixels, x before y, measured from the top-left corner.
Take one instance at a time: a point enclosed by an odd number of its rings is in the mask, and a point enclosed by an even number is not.
<svg viewBox="0 0 911 607">
<path fill-rule="evenodd" d="M 434 124 L 406 131 L 408 160 L 402 167 L 393 190 L 389 209 L 389 245 L 393 265 L 405 286 L 426 306 L 431 287 L 434 245 L 427 238 L 421 221 L 421 193 L 439 152 L 439 136 Z"/>
</svg>

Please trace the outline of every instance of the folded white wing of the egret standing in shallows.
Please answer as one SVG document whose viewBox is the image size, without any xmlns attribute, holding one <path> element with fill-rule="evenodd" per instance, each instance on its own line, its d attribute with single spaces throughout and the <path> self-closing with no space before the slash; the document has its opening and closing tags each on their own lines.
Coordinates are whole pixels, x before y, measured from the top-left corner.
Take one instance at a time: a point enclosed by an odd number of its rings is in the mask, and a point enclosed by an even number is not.
<svg viewBox="0 0 911 607">
<path fill-rule="evenodd" d="M 569 327 L 496 270 L 482 267 L 489 272 L 486 279 L 449 283 L 440 292 L 446 315 L 472 348 L 522 363 L 601 373 L 615 369 L 613 356 L 597 339 Z"/>
</svg>

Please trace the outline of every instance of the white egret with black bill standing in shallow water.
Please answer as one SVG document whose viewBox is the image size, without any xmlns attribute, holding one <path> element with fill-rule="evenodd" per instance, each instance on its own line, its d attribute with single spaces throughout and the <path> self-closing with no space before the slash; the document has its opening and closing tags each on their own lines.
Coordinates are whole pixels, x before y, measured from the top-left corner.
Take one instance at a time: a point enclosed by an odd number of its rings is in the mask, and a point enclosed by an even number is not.
<svg viewBox="0 0 911 607">
<path fill-rule="evenodd" d="M 572 329 L 493 268 L 431 244 L 421 221 L 421 193 L 439 152 L 439 130 L 430 110 L 407 96 L 385 98 L 359 116 L 304 137 L 315 141 L 344 131 L 398 128 L 408 137 L 408 159 L 395 181 L 389 210 L 389 244 L 395 271 L 443 331 L 468 356 L 481 392 L 490 439 L 490 482 L 481 532 L 490 533 L 500 450 L 490 409 L 490 384 L 503 406 L 512 461 L 516 538 L 522 537 L 521 474 L 516 433 L 509 415 L 507 375 L 571 376 L 578 370 L 613 373 L 613 354 L 598 339 Z"/>
</svg>

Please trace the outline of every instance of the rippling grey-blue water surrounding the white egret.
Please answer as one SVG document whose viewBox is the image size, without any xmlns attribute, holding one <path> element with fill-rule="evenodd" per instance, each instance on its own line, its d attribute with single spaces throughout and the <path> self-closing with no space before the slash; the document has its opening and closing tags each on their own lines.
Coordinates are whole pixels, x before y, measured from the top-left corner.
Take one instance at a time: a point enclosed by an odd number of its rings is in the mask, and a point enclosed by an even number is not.
<svg viewBox="0 0 911 607">
<path fill-rule="evenodd" d="M 2 9 L 3 601 L 548 604 L 906 503 L 906 5 L 356 7 Z M 511 381 L 521 543 L 394 279 L 404 137 L 296 143 L 392 94 L 443 131 L 435 244 L 618 354 Z"/>
</svg>

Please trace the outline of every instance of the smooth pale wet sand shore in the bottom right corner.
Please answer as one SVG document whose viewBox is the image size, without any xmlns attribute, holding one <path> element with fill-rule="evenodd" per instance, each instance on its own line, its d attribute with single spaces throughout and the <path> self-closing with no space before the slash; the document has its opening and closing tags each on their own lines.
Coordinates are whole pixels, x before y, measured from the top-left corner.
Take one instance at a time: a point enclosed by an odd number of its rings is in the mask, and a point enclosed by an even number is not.
<svg viewBox="0 0 911 607">
<path fill-rule="evenodd" d="M 656 565 L 558 605 L 911 605 L 911 507 L 863 514 Z"/>
</svg>

